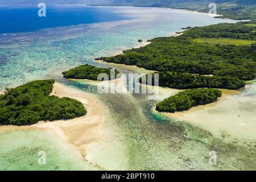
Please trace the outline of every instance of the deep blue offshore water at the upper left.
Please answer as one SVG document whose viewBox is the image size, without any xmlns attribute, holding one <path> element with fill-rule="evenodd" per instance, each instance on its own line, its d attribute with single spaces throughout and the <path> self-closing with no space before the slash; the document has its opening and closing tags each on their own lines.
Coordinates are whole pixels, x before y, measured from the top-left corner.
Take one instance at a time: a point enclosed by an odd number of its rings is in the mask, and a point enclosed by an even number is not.
<svg viewBox="0 0 256 182">
<path fill-rule="evenodd" d="M 46 17 L 39 17 L 37 6 L 2 6 L 0 34 L 129 19 L 114 13 L 115 9 L 76 5 L 47 6 Z"/>
</svg>

